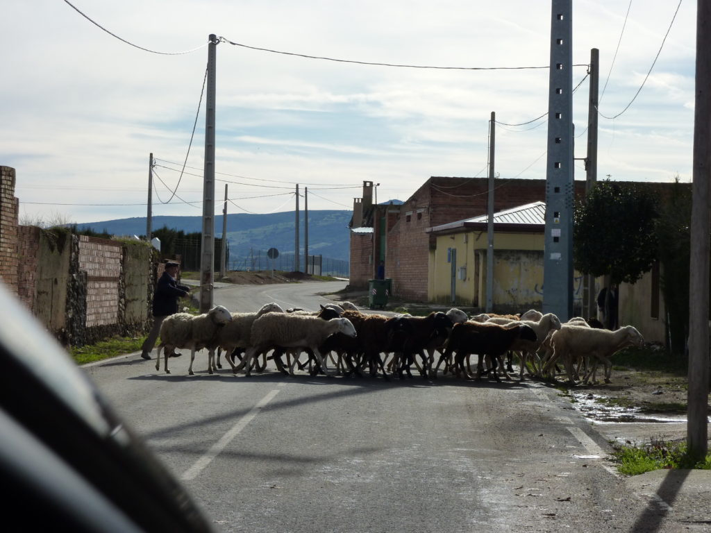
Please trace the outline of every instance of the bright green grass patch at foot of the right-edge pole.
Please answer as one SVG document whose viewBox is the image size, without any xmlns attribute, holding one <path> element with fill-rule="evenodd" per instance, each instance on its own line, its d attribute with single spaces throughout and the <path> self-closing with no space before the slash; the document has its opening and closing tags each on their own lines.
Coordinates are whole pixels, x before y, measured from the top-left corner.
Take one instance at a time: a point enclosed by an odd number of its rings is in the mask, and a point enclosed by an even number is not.
<svg viewBox="0 0 711 533">
<path fill-rule="evenodd" d="M 687 453 L 685 442 L 667 442 L 652 438 L 643 446 L 615 446 L 613 458 L 625 475 L 639 475 L 660 468 L 693 468 L 711 470 L 711 453 L 695 463 Z"/>
</svg>

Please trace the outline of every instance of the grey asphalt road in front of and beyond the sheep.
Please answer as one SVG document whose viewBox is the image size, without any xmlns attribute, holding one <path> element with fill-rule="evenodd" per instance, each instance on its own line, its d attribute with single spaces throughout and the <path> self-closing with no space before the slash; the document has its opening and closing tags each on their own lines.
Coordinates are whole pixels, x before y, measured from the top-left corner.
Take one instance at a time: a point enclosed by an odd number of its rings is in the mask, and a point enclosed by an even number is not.
<svg viewBox="0 0 711 533">
<path fill-rule="evenodd" d="M 316 309 L 342 286 L 234 286 L 215 303 Z M 604 439 L 542 384 L 208 375 L 205 352 L 188 376 L 183 353 L 170 375 L 138 355 L 85 370 L 217 531 L 689 530 L 629 490 Z"/>
</svg>

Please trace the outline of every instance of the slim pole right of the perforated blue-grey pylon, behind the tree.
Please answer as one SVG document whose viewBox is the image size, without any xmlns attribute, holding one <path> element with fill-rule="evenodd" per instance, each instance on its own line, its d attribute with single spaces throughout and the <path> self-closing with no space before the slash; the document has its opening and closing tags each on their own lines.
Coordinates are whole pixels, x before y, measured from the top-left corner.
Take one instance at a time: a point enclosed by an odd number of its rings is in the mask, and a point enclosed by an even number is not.
<svg viewBox="0 0 711 533">
<path fill-rule="evenodd" d="M 587 158 L 585 159 L 585 194 L 589 194 L 597 183 L 597 106 L 600 85 L 600 52 L 590 50 L 590 99 L 587 108 Z M 597 315 L 595 276 L 587 274 L 583 279 L 583 314 L 585 318 Z"/>
</svg>

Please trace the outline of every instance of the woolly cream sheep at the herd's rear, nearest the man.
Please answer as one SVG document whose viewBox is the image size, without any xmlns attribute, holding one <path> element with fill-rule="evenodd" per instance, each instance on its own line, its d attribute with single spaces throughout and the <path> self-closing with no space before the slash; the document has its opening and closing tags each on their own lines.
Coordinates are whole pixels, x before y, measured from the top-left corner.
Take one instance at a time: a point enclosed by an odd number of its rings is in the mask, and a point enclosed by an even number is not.
<svg viewBox="0 0 711 533">
<path fill-rule="evenodd" d="M 215 368 L 215 348 L 220 328 L 232 321 L 232 315 L 227 308 L 215 306 L 208 313 L 191 315 L 176 313 L 166 318 L 161 324 L 161 343 L 156 348 L 156 370 L 161 366 L 161 348 L 163 349 L 164 370 L 168 370 L 168 354 L 176 348 L 190 348 L 190 367 L 188 374 L 193 375 L 195 352 L 208 348 L 208 372 Z"/>
</svg>

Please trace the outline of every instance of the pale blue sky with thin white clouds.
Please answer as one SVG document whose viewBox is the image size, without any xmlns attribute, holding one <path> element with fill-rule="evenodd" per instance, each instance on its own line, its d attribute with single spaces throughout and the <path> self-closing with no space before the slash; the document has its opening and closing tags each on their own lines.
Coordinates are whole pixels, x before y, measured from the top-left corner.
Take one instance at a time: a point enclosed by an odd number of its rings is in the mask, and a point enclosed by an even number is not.
<svg viewBox="0 0 711 533">
<path fill-rule="evenodd" d="M 21 223 L 146 216 L 151 153 L 153 215 L 202 215 L 210 34 L 225 38 L 217 214 L 225 184 L 228 213 L 269 213 L 294 209 L 296 185 L 301 209 L 307 188 L 309 210 L 351 210 L 363 181 L 382 202 L 431 176 L 488 176 L 491 112 L 498 179 L 545 178 L 547 116 L 530 121 L 547 112 L 549 72 L 529 67 L 550 63 L 550 1 L 71 4 L 0 5 L 0 165 L 16 169 Z M 587 155 L 598 48 L 599 179 L 691 181 L 695 11 L 690 0 L 573 1 L 574 157 Z"/>
</svg>

